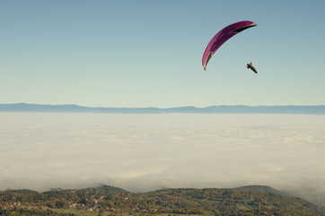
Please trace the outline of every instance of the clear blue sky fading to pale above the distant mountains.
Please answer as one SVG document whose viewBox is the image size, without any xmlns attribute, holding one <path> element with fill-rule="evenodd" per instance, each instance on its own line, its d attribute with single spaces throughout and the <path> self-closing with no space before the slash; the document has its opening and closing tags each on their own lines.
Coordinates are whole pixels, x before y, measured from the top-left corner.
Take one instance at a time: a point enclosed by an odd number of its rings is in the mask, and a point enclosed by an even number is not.
<svg viewBox="0 0 325 216">
<path fill-rule="evenodd" d="M 0 103 L 325 104 L 324 10 L 323 0 L 2 0 Z M 242 20 L 258 26 L 204 71 L 208 41 Z"/>
</svg>

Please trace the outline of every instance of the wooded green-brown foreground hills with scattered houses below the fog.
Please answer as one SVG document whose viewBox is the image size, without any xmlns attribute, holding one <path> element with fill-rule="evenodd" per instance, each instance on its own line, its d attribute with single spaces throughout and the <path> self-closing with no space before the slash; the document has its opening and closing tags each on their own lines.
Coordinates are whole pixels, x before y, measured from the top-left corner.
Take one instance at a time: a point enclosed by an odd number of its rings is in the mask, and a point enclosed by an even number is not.
<svg viewBox="0 0 325 216">
<path fill-rule="evenodd" d="M 325 215 L 311 202 L 266 187 L 164 189 L 129 193 L 103 185 L 81 190 L 0 192 L 0 215 Z"/>
</svg>

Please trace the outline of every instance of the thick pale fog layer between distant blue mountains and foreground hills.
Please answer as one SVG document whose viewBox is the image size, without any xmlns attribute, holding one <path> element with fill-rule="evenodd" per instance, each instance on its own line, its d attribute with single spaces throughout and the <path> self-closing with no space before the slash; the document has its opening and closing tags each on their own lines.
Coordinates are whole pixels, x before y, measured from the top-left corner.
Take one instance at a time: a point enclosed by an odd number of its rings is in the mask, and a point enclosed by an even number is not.
<svg viewBox="0 0 325 216">
<path fill-rule="evenodd" d="M 0 112 L 0 190 L 265 184 L 325 194 L 325 115 Z"/>
</svg>

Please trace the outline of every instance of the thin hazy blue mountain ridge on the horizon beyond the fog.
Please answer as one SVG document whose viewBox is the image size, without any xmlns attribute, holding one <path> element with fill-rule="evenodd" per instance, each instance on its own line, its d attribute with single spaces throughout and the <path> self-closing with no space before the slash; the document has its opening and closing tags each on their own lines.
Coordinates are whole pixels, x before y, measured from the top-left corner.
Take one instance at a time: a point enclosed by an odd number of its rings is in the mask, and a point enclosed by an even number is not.
<svg viewBox="0 0 325 216">
<path fill-rule="evenodd" d="M 0 112 L 92 112 L 92 113 L 290 113 L 325 114 L 325 105 L 247 106 L 214 105 L 203 108 L 181 106 L 172 108 L 87 107 L 75 104 L 0 103 Z"/>
</svg>

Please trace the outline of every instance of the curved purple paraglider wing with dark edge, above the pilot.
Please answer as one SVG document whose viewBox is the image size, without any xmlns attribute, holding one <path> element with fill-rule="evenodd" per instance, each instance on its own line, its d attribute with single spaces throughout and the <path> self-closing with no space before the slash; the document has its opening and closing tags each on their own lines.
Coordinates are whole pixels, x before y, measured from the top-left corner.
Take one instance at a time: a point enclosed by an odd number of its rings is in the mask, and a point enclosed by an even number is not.
<svg viewBox="0 0 325 216">
<path fill-rule="evenodd" d="M 221 31 L 217 32 L 215 34 L 215 37 L 213 37 L 212 40 L 207 44 L 206 50 L 203 53 L 202 58 L 202 66 L 206 70 L 206 64 L 210 60 L 210 58 L 215 54 L 215 51 L 219 49 L 225 41 L 229 40 L 233 37 L 233 35 L 244 31 L 246 29 L 249 29 L 250 27 L 256 26 L 256 23 L 250 22 L 250 21 L 242 21 L 238 23 L 233 23 L 231 25 L 228 25 Z"/>
</svg>

